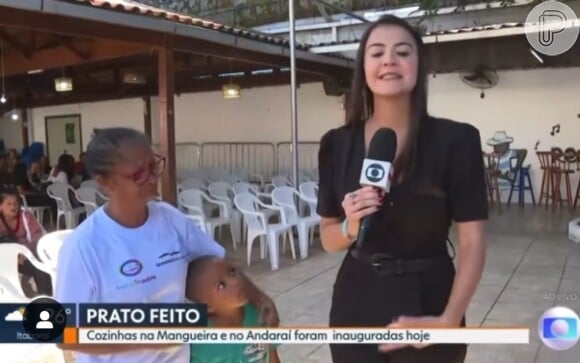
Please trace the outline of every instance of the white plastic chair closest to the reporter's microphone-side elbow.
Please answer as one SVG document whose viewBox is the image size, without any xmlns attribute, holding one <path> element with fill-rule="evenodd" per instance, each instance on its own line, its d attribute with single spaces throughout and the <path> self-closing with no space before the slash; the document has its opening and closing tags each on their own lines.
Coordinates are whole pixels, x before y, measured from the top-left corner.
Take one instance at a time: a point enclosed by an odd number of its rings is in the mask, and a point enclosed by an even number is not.
<svg viewBox="0 0 580 363">
<path fill-rule="evenodd" d="M 313 239 L 314 228 L 320 225 L 320 217 L 317 215 L 301 217 L 298 213 L 296 197 L 298 201 L 304 200 L 303 196 L 292 187 L 278 187 L 272 191 L 274 204 L 284 208 L 288 223 L 296 226 L 298 230 L 300 258 L 305 259 L 308 257 L 308 246 Z"/>
</svg>

